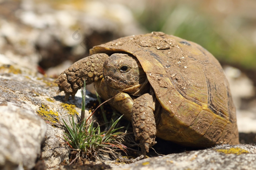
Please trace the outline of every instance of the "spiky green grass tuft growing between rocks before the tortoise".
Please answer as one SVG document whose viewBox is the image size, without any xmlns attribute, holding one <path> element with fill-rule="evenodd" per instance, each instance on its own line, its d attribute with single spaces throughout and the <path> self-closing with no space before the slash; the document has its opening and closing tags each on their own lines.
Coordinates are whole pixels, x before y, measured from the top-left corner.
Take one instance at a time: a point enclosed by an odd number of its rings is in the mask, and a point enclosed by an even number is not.
<svg viewBox="0 0 256 170">
<path fill-rule="evenodd" d="M 125 136 L 124 132 L 118 132 L 123 127 L 117 127 L 118 121 L 123 117 L 120 116 L 116 121 L 111 121 L 109 129 L 101 132 L 99 124 L 90 117 L 84 119 L 85 110 L 85 82 L 82 88 L 82 109 L 81 119 L 79 123 L 75 122 L 74 116 L 72 119 L 69 117 L 69 124 L 64 120 L 64 139 L 71 149 L 78 151 L 78 154 L 82 153 L 85 158 L 95 158 L 97 151 L 114 151 L 124 150 L 127 148 L 118 140 L 122 140 Z M 103 110 L 102 110 L 103 111 Z M 95 112 L 95 111 L 94 111 Z M 93 113 L 91 113 L 92 115 Z M 88 121 L 89 120 L 89 121 Z M 82 152 L 81 152 L 82 151 Z M 78 157 L 76 157 L 78 158 Z M 72 161 L 73 162 L 73 161 Z"/>
</svg>

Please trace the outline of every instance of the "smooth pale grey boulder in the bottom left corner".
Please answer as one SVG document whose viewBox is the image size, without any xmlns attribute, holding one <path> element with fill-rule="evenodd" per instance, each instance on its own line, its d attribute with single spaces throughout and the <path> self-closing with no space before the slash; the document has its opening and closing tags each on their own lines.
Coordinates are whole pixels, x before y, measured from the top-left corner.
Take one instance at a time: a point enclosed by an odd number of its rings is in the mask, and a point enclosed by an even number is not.
<svg viewBox="0 0 256 170">
<path fill-rule="evenodd" d="M 4 98 L 1 98 L 0 113 L 0 169 L 33 168 L 41 155 L 45 122 L 30 110 Z"/>
</svg>

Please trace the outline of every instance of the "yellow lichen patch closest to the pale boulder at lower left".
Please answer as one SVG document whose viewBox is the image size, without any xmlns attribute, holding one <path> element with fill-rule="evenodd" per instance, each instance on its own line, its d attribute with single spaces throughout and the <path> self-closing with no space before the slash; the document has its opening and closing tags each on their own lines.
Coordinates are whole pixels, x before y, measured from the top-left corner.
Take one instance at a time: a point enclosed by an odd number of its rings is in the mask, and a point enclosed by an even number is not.
<svg viewBox="0 0 256 170">
<path fill-rule="evenodd" d="M 58 112 L 50 110 L 46 105 L 42 104 L 39 110 L 37 111 L 38 115 L 43 117 L 45 120 L 52 123 L 57 123 L 59 121 Z"/>
</svg>

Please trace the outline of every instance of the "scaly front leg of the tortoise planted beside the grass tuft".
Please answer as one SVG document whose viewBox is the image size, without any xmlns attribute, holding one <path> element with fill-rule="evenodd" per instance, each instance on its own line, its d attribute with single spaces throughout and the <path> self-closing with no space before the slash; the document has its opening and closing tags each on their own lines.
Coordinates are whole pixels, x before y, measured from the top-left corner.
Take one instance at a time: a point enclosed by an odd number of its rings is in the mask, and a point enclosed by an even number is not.
<svg viewBox="0 0 256 170">
<path fill-rule="evenodd" d="M 155 103 L 153 97 L 146 93 L 136 98 L 132 106 L 132 126 L 136 140 L 140 140 L 140 147 L 144 158 L 146 152 L 155 142 L 157 129 L 154 117 Z"/>
</svg>

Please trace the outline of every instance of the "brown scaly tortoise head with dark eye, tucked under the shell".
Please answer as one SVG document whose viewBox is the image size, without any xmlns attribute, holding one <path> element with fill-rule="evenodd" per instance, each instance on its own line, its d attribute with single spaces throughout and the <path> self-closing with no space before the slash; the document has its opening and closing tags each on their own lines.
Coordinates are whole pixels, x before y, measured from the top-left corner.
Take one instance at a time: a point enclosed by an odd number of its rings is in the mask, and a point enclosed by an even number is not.
<svg viewBox="0 0 256 170">
<path fill-rule="evenodd" d="M 148 90 L 146 73 L 138 59 L 128 54 L 114 53 L 103 65 L 103 77 L 107 84 L 133 96 Z"/>
</svg>

